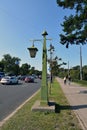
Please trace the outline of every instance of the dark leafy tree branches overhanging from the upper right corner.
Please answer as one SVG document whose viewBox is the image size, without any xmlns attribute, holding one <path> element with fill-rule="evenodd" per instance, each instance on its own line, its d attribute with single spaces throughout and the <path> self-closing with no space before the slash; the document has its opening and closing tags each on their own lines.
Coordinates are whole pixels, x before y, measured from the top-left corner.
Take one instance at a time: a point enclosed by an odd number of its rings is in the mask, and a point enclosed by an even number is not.
<svg viewBox="0 0 87 130">
<path fill-rule="evenodd" d="M 87 42 L 87 0 L 57 0 L 64 9 L 75 10 L 75 15 L 65 16 L 62 24 L 64 34 L 60 34 L 60 42 L 69 44 L 86 44 Z"/>
</svg>

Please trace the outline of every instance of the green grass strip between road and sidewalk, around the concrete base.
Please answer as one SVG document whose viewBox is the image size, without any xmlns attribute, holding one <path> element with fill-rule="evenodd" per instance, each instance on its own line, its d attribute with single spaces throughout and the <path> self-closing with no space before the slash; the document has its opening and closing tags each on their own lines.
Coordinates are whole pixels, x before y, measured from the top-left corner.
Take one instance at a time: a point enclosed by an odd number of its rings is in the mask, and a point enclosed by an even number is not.
<svg viewBox="0 0 87 130">
<path fill-rule="evenodd" d="M 49 94 L 49 99 L 56 102 L 55 113 L 32 112 L 31 107 L 38 99 L 40 99 L 40 92 L 10 118 L 0 130 L 82 130 L 56 80 Z"/>
</svg>

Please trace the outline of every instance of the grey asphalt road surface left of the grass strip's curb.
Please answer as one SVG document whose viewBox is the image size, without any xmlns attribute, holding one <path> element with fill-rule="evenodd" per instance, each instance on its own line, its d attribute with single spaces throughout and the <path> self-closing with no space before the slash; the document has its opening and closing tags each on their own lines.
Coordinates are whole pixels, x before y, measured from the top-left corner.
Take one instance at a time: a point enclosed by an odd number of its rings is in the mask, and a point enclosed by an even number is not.
<svg viewBox="0 0 87 130">
<path fill-rule="evenodd" d="M 36 79 L 35 83 L 19 81 L 18 85 L 0 84 L 0 121 L 31 97 L 40 86 L 40 79 Z"/>
</svg>

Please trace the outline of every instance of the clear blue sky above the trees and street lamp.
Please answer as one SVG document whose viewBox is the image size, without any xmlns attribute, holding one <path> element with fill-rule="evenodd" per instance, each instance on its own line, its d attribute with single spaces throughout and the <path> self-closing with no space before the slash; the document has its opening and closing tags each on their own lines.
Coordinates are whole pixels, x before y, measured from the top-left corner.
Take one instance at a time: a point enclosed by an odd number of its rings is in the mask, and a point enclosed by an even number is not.
<svg viewBox="0 0 87 130">
<path fill-rule="evenodd" d="M 46 41 L 47 50 L 50 44 L 54 46 L 53 57 L 62 58 L 58 63 L 69 63 L 70 68 L 80 65 L 80 46 L 70 45 L 67 49 L 60 44 L 61 24 L 64 16 L 71 13 L 74 11 L 58 7 L 56 0 L 0 0 L 0 60 L 10 54 L 21 59 L 20 65 L 28 63 L 42 70 L 43 42 L 34 42 L 38 48 L 36 58 L 30 58 L 27 48 L 33 40 L 43 40 L 42 32 L 46 30 L 47 38 L 52 39 Z M 86 50 L 87 45 L 82 46 L 83 65 L 87 65 Z M 49 59 L 48 51 L 47 57 Z"/>
</svg>

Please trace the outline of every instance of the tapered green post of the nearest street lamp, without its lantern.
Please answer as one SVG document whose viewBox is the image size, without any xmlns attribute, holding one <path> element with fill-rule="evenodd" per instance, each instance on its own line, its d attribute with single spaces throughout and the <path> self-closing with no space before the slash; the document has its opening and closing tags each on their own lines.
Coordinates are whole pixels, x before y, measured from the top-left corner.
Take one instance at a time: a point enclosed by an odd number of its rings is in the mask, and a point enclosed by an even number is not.
<svg viewBox="0 0 87 130">
<path fill-rule="evenodd" d="M 46 36 L 48 33 L 44 31 L 43 36 L 43 54 L 42 54 L 42 85 L 41 85 L 41 105 L 48 104 L 48 86 L 47 86 L 47 49 Z"/>
</svg>

